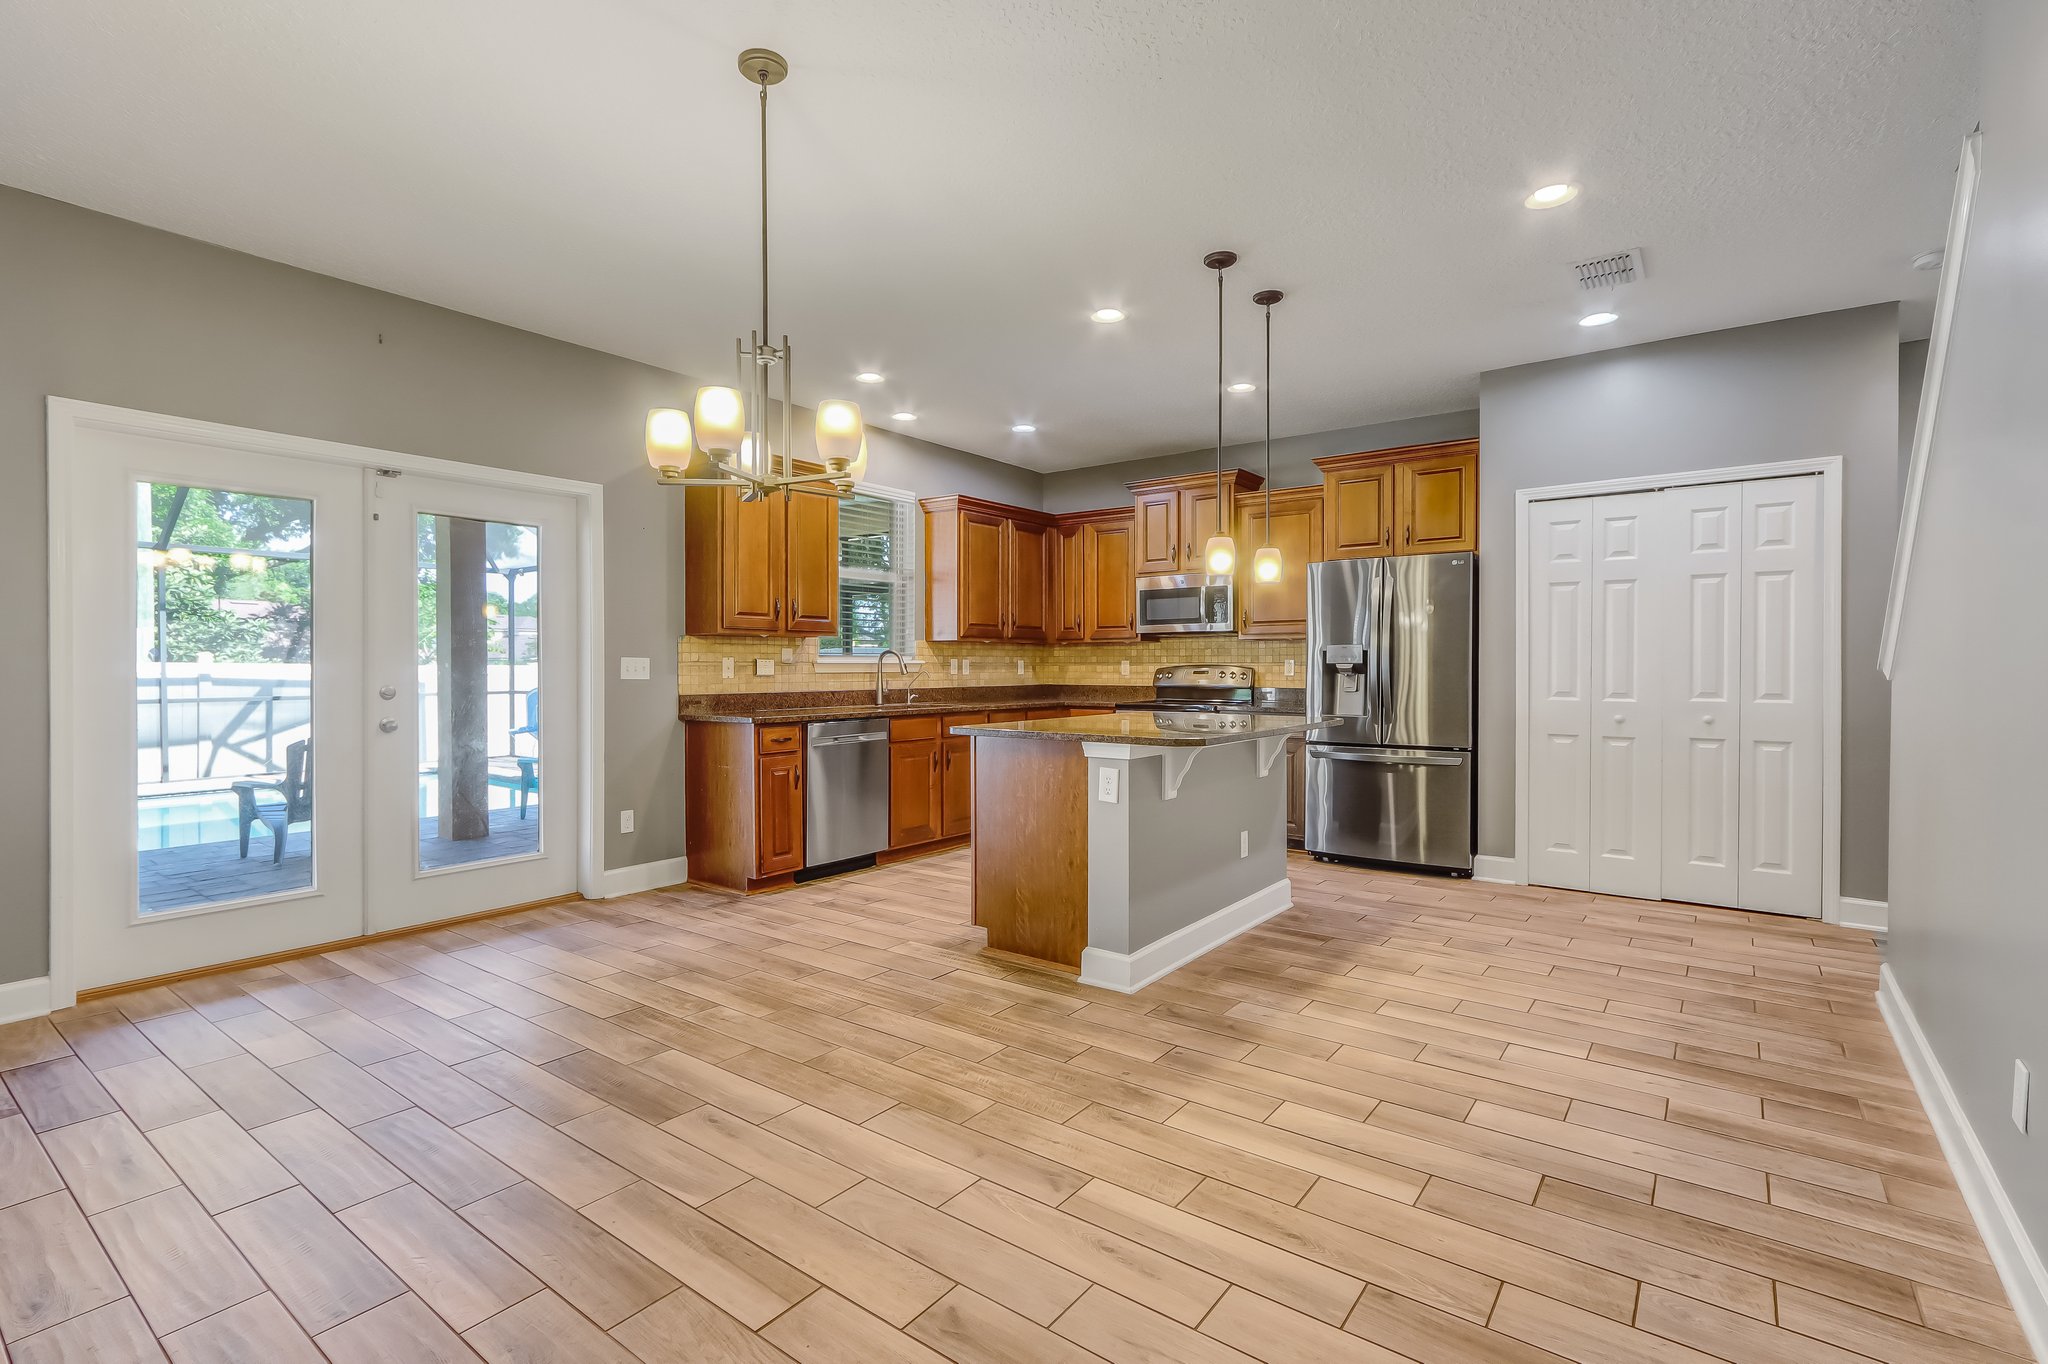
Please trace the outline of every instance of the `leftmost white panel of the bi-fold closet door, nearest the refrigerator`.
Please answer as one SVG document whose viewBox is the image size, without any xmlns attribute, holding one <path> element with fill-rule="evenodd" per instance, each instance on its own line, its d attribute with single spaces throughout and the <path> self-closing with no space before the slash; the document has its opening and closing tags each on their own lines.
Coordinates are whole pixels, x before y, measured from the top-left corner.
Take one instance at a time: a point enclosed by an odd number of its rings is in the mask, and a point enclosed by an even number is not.
<svg viewBox="0 0 2048 1364">
<path fill-rule="evenodd" d="M 1528 573 L 1528 879 L 1585 891 L 1591 885 L 1591 641 L 1593 504 L 1542 502 L 1530 510 Z"/>
</svg>

